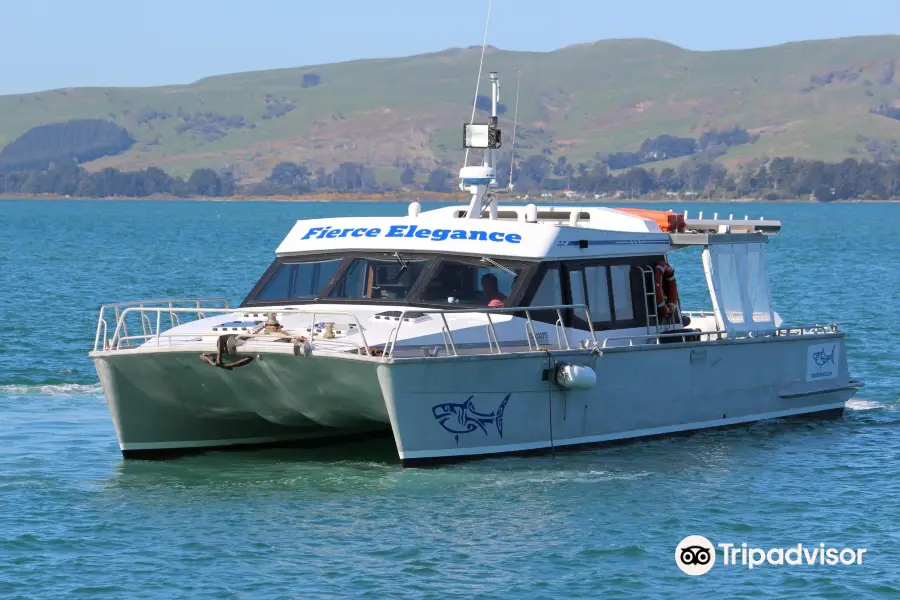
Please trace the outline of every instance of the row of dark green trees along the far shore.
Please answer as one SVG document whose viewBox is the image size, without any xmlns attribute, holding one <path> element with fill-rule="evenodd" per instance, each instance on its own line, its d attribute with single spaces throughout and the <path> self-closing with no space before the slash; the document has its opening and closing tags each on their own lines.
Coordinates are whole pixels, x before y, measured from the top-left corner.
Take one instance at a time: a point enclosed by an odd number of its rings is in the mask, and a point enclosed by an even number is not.
<svg viewBox="0 0 900 600">
<path fill-rule="evenodd" d="M 501 161 L 497 179 L 509 181 L 510 163 Z M 401 182 L 379 183 L 371 168 L 345 162 L 333 170 L 292 162 L 277 164 L 260 182 L 241 184 L 229 170 L 197 169 L 189 177 L 172 177 L 162 169 L 140 171 L 106 168 L 94 173 L 74 160 L 60 160 L 47 169 L 0 172 L 0 193 L 56 194 L 81 197 L 189 196 L 302 196 L 317 193 L 458 191 L 457 173 L 448 168 L 428 172 L 423 185 L 418 171 L 407 165 Z M 824 202 L 849 198 L 900 197 L 900 161 L 875 163 L 848 158 L 838 163 L 798 158 L 756 160 L 729 171 L 704 155 L 690 156 L 677 168 L 657 171 L 643 166 L 613 171 L 603 162 L 572 165 L 565 157 L 551 161 L 546 154 L 517 160 L 515 189 L 519 193 L 570 189 L 585 194 L 689 194 L 709 197 L 755 197 L 776 200 L 814 196 Z"/>
</svg>

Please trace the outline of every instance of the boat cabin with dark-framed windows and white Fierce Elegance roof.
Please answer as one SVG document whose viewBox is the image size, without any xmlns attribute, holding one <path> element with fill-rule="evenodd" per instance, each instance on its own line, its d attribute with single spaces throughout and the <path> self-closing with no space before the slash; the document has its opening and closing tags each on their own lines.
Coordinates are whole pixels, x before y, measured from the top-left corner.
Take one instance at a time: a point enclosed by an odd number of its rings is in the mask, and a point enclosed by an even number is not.
<svg viewBox="0 0 900 600">
<path fill-rule="evenodd" d="M 322 303 L 477 310 L 585 305 L 597 331 L 649 332 L 678 329 L 688 322 L 680 307 L 660 314 L 654 277 L 667 252 L 701 241 L 696 231 L 670 233 L 663 231 L 665 219 L 660 227 L 646 214 L 599 207 L 529 205 L 503 207 L 496 219 L 466 217 L 465 207 L 449 207 L 421 213 L 413 209 L 404 218 L 299 221 L 242 306 Z M 741 222 L 733 223 L 739 230 Z M 702 241 L 709 243 L 709 234 L 703 235 Z M 734 266 L 733 255 L 728 256 Z M 759 259 L 751 262 L 749 276 L 758 279 Z M 717 289 L 722 310 L 736 321 L 736 311 L 743 310 L 743 301 L 738 305 L 735 299 L 743 297 L 740 286 L 735 287 L 738 273 L 732 268 L 733 276 L 724 277 L 723 268 L 720 260 L 716 272 L 721 275 Z M 750 314 L 762 315 L 768 306 L 767 276 L 764 279 L 765 288 L 753 295 Z M 673 303 L 678 307 L 677 298 Z M 533 311 L 531 316 L 553 324 L 558 319 L 555 310 Z M 564 321 L 567 327 L 589 329 L 583 311 L 565 311 Z"/>
</svg>

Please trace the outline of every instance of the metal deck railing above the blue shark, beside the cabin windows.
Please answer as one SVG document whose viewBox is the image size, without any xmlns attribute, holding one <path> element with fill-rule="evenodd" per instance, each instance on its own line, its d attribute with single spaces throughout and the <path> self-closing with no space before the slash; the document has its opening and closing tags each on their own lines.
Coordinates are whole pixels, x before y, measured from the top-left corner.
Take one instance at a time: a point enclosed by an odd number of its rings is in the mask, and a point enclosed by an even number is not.
<svg viewBox="0 0 900 600">
<path fill-rule="evenodd" d="M 448 356 L 459 356 L 460 355 L 460 344 L 453 337 L 453 328 L 450 325 L 450 321 L 447 320 L 447 315 L 484 315 L 486 318 L 485 323 L 485 335 L 487 339 L 487 348 L 489 354 L 502 354 L 503 349 L 500 345 L 500 338 L 497 335 L 497 330 L 494 327 L 494 320 L 491 315 L 524 315 L 525 324 L 524 324 L 524 333 L 525 333 L 525 341 L 528 345 L 528 350 L 530 351 L 538 351 L 542 349 L 541 342 L 539 340 L 539 336 L 537 334 L 537 330 L 534 326 L 534 319 L 532 318 L 532 313 L 535 312 L 548 312 L 554 311 L 556 312 L 556 321 L 554 323 L 554 328 L 556 330 L 556 342 L 557 347 L 564 350 L 573 349 L 572 342 L 569 339 L 568 328 L 565 326 L 566 319 L 564 318 L 564 311 L 573 311 L 578 314 L 578 311 L 584 315 L 584 321 L 588 325 L 588 331 L 590 332 L 591 339 L 588 343 L 590 343 L 590 348 L 596 348 L 598 345 L 597 342 L 597 334 L 594 331 L 593 321 L 591 321 L 591 313 L 588 307 L 584 304 L 559 304 L 552 306 L 512 306 L 512 307 L 503 307 L 503 308 L 458 308 L 458 309 L 409 309 L 403 310 L 400 313 L 399 318 L 397 319 L 397 326 L 394 327 L 390 335 L 388 336 L 388 341 L 384 346 L 384 356 L 388 358 L 392 358 L 394 356 L 395 350 L 398 348 L 398 340 L 400 337 L 400 331 L 403 326 L 403 323 L 406 319 L 407 313 L 416 313 L 422 314 L 425 313 L 432 318 L 439 318 L 441 320 L 441 338 L 444 345 L 444 352 Z M 472 324 L 466 323 L 465 329 L 471 330 Z M 546 344 L 544 344 L 546 346 Z M 402 347 L 402 346 L 400 346 Z M 581 346 L 582 348 L 586 348 L 587 346 Z"/>
</svg>

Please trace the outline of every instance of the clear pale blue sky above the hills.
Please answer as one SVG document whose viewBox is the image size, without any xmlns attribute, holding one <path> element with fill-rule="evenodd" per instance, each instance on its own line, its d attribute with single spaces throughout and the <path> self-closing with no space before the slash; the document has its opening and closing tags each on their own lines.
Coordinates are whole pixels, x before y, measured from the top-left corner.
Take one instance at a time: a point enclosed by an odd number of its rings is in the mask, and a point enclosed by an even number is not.
<svg viewBox="0 0 900 600">
<path fill-rule="evenodd" d="M 480 45 L 488 0 L 0 0 L 0 94 Z M 900 0 L 493 0 L 488 43 L 610 38 L 691 50 L 900 33 Z"/>
</svg>

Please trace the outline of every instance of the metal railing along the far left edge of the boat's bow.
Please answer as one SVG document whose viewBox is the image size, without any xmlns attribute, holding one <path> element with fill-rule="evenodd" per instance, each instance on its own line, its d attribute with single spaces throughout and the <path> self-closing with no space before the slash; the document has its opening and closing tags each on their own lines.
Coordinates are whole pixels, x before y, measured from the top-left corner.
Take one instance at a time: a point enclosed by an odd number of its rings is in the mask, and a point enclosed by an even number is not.
<svg viewBox="0 0 900 600">
<path fill-rule="evenodd" d="M 176 327 L 181 324 L 176 308 L 188 308 L 189 312 L 196 315 L 196 318 L 205 318 L 205 313 L 214 309 L 232 310 L 229 307 L 228 300 L 225 298 L 167 298 L 164 300 L 133 300 L 130 302 L 116 302 L 113 304 L 103 304 L 100 306 L 100 315 L 97 319 L 97 331 L 94 336 L 94 351 L 107 350 L 117 345 L 120 336 L 114 335 L 109 338 L 109 323 L 107 318 L 112 318 L 115 325 L 115 331 L 120 328 L 124 338 L 134 339 L 139 336 L 132 336 L 128 333 L 128 322 L 123 319 L 123 313 L 138 313 L 141 333 L 143 336 L 152 337 L 153 323 L 148 312 L 161 315 L 162 312 L 168 313 L 170 327 Z M 137 310 L 130 310 L 137 309 Z M 132 323 L 135 325 L 135 323 Z M 159 326 L 156 328 L 159 332 Z"/>
</svg>

